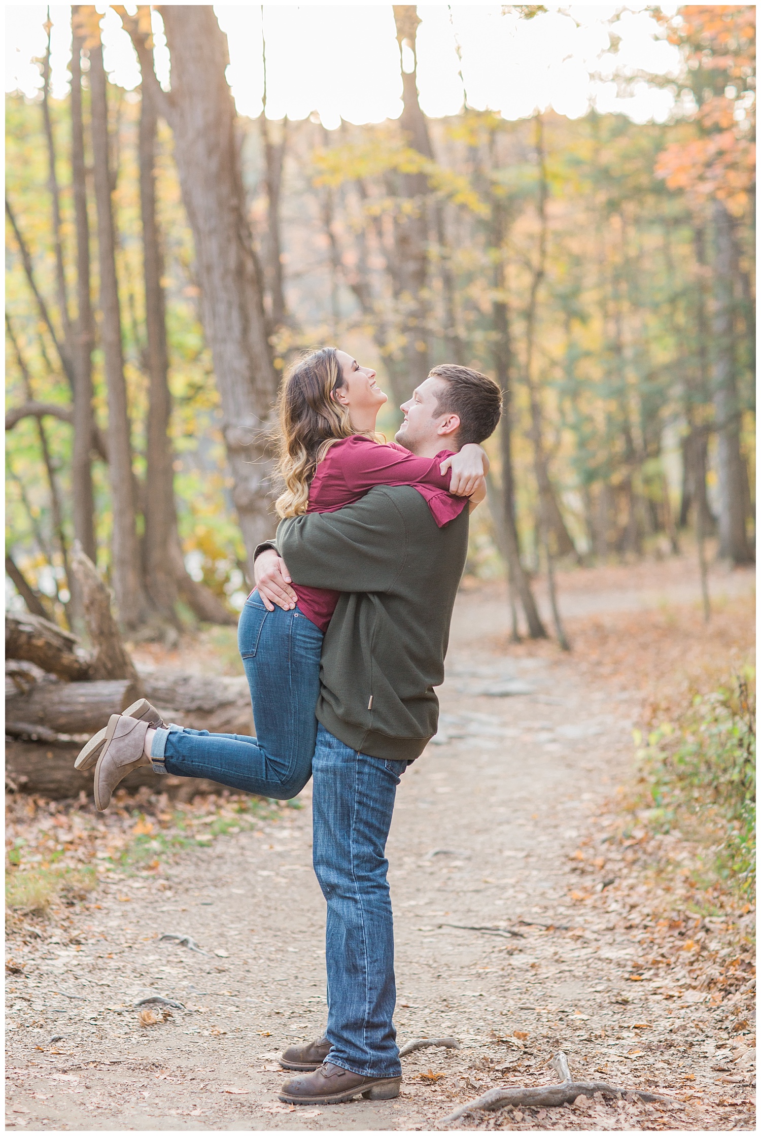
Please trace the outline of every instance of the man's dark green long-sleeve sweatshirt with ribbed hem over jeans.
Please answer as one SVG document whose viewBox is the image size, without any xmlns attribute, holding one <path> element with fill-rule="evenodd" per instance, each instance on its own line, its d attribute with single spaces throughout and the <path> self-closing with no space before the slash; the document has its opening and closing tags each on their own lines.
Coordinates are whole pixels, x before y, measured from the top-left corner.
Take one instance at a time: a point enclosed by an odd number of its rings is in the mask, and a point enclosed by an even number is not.
<svg viewBox="0 0 761 1136">
<path fill-rule="evenodd" d="M 417 490 L 371 490 L 336 512 L 281 521 L 296 584 L 342 592 L 325 633 L 317 718 L 345 745 L 395 761 L 436 733 L 468 510 L 438 528 Z"/>
</svg>

